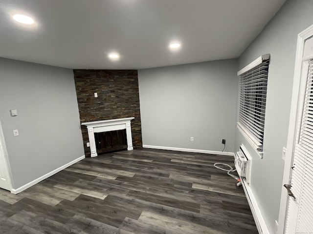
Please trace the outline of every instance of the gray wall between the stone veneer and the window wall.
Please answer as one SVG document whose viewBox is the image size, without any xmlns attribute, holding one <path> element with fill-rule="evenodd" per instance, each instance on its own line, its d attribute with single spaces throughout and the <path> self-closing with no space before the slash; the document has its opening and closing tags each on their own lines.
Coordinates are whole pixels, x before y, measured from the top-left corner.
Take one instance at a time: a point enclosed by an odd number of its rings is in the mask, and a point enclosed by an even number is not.
<svg viewBox="0 0 313 234">
<path fill-rule="evenodd" d="M 233 152 L 236 59 L 138 71 L 144 145 Z M 194 141 L 190 141 L 194 137 Z"/>
</svg>

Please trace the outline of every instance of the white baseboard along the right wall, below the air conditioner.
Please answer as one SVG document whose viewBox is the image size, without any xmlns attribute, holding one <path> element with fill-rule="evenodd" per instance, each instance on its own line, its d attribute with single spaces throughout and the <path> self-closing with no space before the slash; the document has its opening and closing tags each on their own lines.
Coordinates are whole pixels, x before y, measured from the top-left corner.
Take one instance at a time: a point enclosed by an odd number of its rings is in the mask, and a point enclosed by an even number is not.
<svg viewBox="0 0 313 234">
<path fill-rule="evenodd" d="M 259 234 L 270 234 L 268 232 L 268 226 L 266 225 L 262 212 L 258 206 L 258 203 L 255 199 L 255 196 L 252 193 L 250 186 L 245 182 L 245 180 L 242 177 L 241 181 L 243 182 L 242 185 Z"/>
</svg>

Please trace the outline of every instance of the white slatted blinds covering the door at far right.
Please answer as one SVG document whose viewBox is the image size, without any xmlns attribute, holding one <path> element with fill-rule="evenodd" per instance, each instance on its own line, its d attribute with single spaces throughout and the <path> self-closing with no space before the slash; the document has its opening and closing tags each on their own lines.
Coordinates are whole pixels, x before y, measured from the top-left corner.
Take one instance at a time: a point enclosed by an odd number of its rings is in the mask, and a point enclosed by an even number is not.
<svg viewBox="0 0 313 234">
<path fill-rule="evenodd" d="M 313 232 L 313 61 L 309 61 L 306 94 L 299 137 L 294 149 L 291 190 L 286 233 Z M 293 198 L 290 198 L 293 199 Z"/>
</svg>

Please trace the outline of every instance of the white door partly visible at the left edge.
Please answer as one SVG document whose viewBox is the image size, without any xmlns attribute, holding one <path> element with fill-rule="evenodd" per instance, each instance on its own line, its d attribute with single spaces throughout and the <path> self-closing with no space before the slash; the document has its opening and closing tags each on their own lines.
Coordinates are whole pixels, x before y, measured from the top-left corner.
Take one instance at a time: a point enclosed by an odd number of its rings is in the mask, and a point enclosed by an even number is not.
<svg viewBox="0 0 313 234">
<path fill-rule="evenodd" d="M 11 190 L 11 180 L 9 177 L 8 164 L 5 158 L 6 147 L 4 143 L 4 137 L 2 133 L 2 127 L 0 122 L 0 188 Z"/>
</svg>

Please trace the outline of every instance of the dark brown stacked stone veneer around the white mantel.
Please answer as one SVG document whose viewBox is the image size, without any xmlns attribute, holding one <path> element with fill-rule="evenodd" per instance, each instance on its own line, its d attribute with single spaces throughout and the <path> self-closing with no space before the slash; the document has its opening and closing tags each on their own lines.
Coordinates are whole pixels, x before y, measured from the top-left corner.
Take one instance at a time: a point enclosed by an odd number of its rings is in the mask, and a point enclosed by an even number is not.
<svg viewBox="0 0 313 234">
<path fill-rule="evenodd" d="M 133 146 L 141 148 L 137 70 L 74 70 L 74 79 L 81 123 L 135 117 L 131 122 Z M 81 128 L 85 155 L 90 156 L 87 127 Z"/>
</svg>

